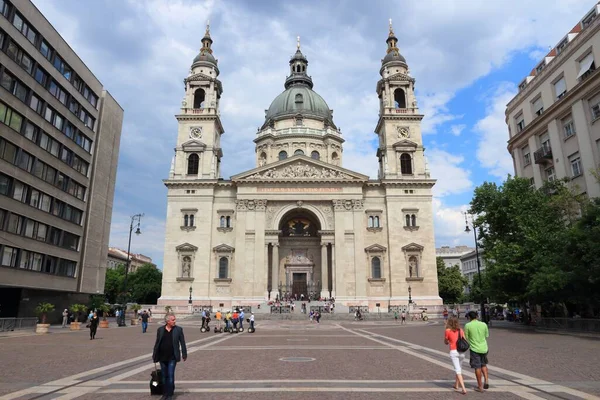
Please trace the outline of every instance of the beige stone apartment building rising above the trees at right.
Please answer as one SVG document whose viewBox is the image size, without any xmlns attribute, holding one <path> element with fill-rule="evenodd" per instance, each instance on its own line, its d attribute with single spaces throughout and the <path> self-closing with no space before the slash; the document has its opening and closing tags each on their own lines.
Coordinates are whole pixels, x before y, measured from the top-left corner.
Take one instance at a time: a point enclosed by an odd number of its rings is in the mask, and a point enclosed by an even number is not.
<svg viewBox="0 0 600 400">
<path fill-rule="evenodd" d="M 508 103 L 508 150 L 517 176 L 539 188 L 569 178 L 588 197 L 600 196 L 600 5 L 544 57 Z"/>
</svg>

